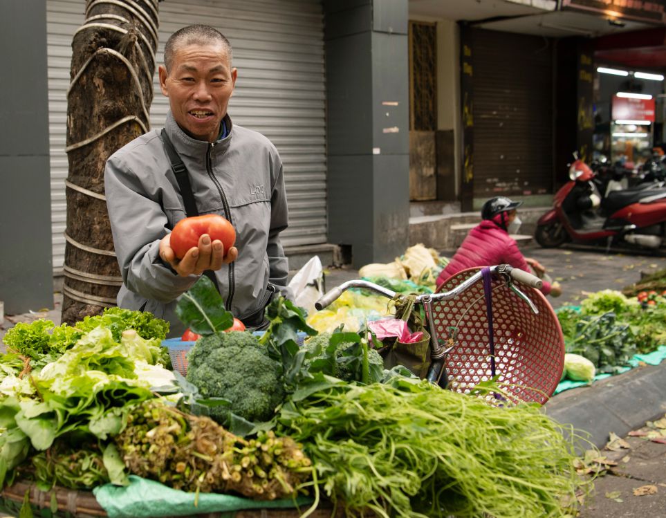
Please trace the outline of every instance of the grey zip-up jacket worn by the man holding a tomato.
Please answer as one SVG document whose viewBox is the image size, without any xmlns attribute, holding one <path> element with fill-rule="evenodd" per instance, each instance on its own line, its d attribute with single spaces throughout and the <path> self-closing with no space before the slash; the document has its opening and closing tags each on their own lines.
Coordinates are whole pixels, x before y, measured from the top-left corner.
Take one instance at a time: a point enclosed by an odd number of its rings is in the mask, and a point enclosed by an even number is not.
<svg viewBox="0 0 666 518">
<path fill-rule="evenodd" d="M 199 214 L 221 214 L 236 229 L 238 259 L 216 272 L 225 308 L 243 320 L 261 311 L 277 287 L 284 295 L 288 266 L 279 240 L 287 227 L 287 200 L 277 149 L 256 131 L 232 126 L 214 144 L 195 140 L 171 112 L 165 130 L 189 172 Z M 107 160 L 104 188 L 123 286 L 118 306 L 142 309 L 184 326 L 174 313 L 177 299 L 198 276 L 179 277 L 159 257 L 159 243 L 185 217 L 160 131 L 149 131 Z"/>
</svg>

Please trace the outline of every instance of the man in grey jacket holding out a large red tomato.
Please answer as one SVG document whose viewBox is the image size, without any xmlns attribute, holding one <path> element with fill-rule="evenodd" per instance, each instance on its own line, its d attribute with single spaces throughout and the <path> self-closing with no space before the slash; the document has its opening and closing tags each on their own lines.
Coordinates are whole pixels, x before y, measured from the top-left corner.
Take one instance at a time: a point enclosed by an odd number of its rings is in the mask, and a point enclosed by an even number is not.
<svg viewBox="0 0 666 518">
<path fill-rule="evenodd" d="M 227 108 L 237 69 L 229 41 L 216 29 L 176 31 L 159 77 L 170 108 L 164 131 L 149 131 L 116 151 L 104 172 L 123 279 L 118 306 L 150 311 L 171 322 L 170 336 L 181 335 L 174 313 L 178 297 L 210 270 L 225 307 L 246 326 L 261 328 L 272 295 L 290 296 L 279 240 L 288 214 L 277 149 L 261 134 L 232 124 Z M 198 214 L 223 216 L 231 223 L 227 230 L 182 221 L 189 237 L 176 243 L 172 230 L 188 214 L 169 142 L 187 170 Z M 228 234 L 234 229 L 235 244 Z"/>
</svg>

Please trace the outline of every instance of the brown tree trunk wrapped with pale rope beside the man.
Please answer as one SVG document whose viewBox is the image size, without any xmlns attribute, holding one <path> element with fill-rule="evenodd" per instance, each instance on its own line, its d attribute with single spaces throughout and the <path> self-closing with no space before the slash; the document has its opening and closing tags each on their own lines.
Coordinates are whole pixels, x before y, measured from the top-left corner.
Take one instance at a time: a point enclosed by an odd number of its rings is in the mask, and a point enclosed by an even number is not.
<svg viewBox="0 0 666 518">
<path fill-rule="evenodd" d="M 86 21 L 73 38 L 62 302 L 68 324 L 115 306 L 122 284 L 104 164 L 149 129 L 158 22 L 158 0 L 87 0 Z"/>
</svg>

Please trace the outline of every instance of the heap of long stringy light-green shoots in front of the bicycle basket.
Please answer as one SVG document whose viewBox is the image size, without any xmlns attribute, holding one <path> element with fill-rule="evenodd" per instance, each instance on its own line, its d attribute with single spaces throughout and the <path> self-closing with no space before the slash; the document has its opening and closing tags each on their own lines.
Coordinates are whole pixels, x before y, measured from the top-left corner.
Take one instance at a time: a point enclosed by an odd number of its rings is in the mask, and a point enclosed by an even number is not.
<svg viewBox="0 0 666 518">
<path fill-rule="evenodd" d="M 324 492 L 352 515 L 564 517 L 582 482 L 573 444 L 536 405 L 493 407 L 425 381 L 319 374 L 281 410 Z"/>
</svg>

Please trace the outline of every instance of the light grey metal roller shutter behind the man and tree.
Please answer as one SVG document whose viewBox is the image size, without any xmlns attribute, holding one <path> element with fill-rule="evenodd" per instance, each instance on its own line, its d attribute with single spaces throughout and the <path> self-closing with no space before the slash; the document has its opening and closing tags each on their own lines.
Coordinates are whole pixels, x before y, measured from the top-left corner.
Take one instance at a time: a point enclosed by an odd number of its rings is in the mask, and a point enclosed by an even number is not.
<svg viewBox="0 0 666 518">
<path fill-rule="evenodd" d="M 71 43 L 84 21 L 83 0 L 48 0 L 48 102 L 53 268 L 64 262 L 67 100 Z M 326 84 L 320 0 L 169 0 L 160 3 L 160 46 L 189 24 L 219 29 L 234 49 L 238 80 L 229 113 L 277 147 L 284 162 L 289 228 L 284 246 L 326 243 Z M 169 107 L 155 73 L 151 127 Z"/>
</svg>

